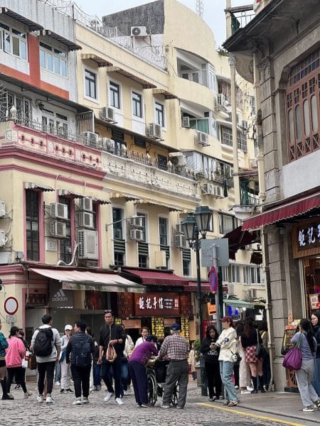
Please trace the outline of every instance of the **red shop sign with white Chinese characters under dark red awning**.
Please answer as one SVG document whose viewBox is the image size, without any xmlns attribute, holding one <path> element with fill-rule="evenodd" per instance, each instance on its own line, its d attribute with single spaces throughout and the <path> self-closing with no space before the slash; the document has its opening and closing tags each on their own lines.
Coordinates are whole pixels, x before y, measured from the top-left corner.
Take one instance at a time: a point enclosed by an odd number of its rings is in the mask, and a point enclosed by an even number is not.
<svg viewBox="0 0 320 426">
<path fill-rule="evenodd" d="M 179 296 L 174 293 L 134 294 L 136 317 L 161 317 L 180 314 Z"/>
</svg>

